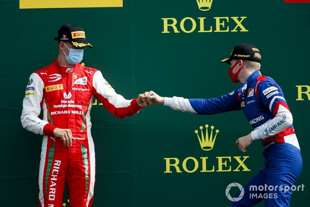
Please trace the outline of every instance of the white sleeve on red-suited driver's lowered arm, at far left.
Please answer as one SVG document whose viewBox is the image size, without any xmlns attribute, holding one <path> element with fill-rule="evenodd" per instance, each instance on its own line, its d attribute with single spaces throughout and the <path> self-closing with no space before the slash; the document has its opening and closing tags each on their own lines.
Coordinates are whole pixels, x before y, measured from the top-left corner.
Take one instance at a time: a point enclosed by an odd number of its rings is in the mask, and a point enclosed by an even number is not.
<svg viewBox="0 0 310 207">
<path fill-rule="evenodd" d="M 30 75 L 23 101 L 23 111 L 20 117 L 23 127 L 33 133 L 43 135 L 43 128 L 47 121 L 38 116 L 41 111 L 44 83 L 38 74 Z"/>
</svg>

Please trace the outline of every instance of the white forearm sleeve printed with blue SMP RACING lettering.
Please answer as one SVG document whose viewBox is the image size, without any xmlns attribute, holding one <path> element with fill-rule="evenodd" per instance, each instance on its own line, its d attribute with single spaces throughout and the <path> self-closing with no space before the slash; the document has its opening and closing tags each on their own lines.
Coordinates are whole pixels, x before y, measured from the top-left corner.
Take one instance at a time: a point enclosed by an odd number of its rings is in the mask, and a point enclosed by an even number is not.
<svg viewBox="0 0 310 207">
<path fill-rule="evenodd" d="M 251 132 L 253 140 L 265 139 L 274 136 L 293 124 L 293 116 L 291 112 L 284 106 L 279 106 L 276 116 L 260 125 Z"/>
</svg>

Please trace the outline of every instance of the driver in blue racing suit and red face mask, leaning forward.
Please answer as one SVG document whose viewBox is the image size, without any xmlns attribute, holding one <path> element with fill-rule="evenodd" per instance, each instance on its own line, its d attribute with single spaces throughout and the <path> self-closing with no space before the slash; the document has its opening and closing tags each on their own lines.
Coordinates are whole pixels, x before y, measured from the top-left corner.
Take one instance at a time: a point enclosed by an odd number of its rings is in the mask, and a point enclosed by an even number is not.
<svg viewBox="0 0 310 207">
<path fill-rule="evenodd" d="M 231 65 L 229 76 L 232 82 L 242 83 L 236 90 L 211 99 L 160 97 L 151 91 L 148 103 L 202 115 L 242 110 L 254 130 L 238 138 L 236 146 L 245 152 L 247 146 L 260 139 L 266 161 L 265 167 L 244 186 L 243 198 L 232 202 L 232 206 L 253 206 L 265 199 L 265 206 L 284 207 L 290 205 L 291 186 L 300 174 L 302 158 L 292 125 L 293 117 L 283 92 L 272 78 L 261 75 L 260 60 L 259 49 L 254 45 L 237 45 L 230 57 L 221 61 Z M 250 186 L 263 186 L 264 189 L 253 191 L 252 188 L 251 191 Z M 268 196 L 253 198 L 252 193 Z"/>
</svg>

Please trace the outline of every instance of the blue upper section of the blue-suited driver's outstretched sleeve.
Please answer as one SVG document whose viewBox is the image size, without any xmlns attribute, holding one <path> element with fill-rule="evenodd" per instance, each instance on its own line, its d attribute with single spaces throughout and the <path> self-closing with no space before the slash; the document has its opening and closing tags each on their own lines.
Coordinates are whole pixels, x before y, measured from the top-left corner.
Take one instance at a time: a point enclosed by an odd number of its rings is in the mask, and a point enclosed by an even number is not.
<svg viewBox="0 0 310 207">
<path fill-rule="evenodd" d="M 237 90 L 217 98 L 188 99 L 193 109 L 202 115 L 241 110 Z"/>
</svg>

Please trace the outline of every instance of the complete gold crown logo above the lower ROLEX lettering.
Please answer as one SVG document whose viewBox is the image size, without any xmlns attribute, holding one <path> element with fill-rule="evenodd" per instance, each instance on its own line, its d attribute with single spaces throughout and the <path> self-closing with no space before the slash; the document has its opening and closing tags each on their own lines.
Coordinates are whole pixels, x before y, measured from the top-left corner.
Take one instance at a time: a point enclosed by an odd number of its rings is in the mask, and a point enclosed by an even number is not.
<svg viewBox="0 0 310 207">
<path fill-rule="evenodd" d="M 209 150 L 213 149 L 214 142 L 215 142 L 215 139 L 216 139 L 216 135 L 217 135 L 217 133 L 219 133 L 219 130 L 218 129 L 215 130 L 215 136 L 213 138 L 214 126 L 211 126 L 210 137 L 209 137 L 209 134 L 208 134 L 208 127 L 209 127 L 209 125 L 206 124 L 205 127 L 206 127 L 206 134 L 205 134 L 205 136 L 204 136 L 203 131 L 202 131 L 202 129 L 203 129 L 202 126 L 199 127 L 200 130 L 201 130 L 201 137 L 199 137 L 198 130 L 195 130 L 195 133 L 197 134 L 197 137 L 198 137 L 201 149 L 205 150 L 205 151 L 209 151 Z"/>
</svg>

